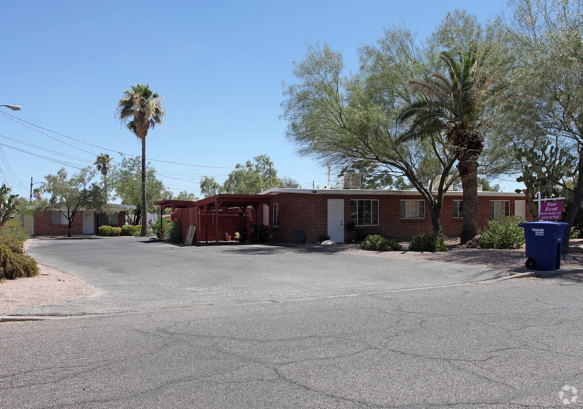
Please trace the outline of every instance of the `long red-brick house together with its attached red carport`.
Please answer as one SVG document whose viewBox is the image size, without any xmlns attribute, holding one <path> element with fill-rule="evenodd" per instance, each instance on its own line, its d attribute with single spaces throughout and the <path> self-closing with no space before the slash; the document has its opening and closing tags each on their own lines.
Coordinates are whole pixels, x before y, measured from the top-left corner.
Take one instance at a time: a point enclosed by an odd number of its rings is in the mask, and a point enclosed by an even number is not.
<svg viewBox="0 0 583 409">
<path fill-rule="evenodd" d="M 257 195 L 222 194 L 196 202 L 167 200 L 156 204 L 181 207 L 178 216 L 182 235 L 189 225 L 196 225 L 195 243 L 222 240 L 224 232 L 234 234 L 241 226 L 250 229 L 252 224 L 269 226 L 271 240 L 282 243 L 296 241 L 294 230 L 304 232 L 305 243 L 316 243 L 320 234 L 344 243 L 357 233 L 410 240 L 416 234 L 433 231 L 429 208 L 416 190 L 278 188 Z M 478 204 L 478 230 L 501 215 L 532 221 L 522 193 L 479 191 Z M 233 218 L 230 212 L 235 208 L 239 209 L 236 214 L 245 217 Z M 462 220 L 462 192 L 448 191 L 441 209 L 442 231 L 446 236 L 458 237 Z"/>
</svg>

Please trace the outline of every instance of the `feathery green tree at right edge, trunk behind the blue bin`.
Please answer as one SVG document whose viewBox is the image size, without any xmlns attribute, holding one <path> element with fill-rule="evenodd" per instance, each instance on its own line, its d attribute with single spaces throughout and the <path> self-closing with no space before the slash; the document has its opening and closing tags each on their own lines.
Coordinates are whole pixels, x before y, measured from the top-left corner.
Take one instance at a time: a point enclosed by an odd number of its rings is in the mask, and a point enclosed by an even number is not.
<svg viewBox="0 0 583 409">
<path fill-rule="evenodd" d="M 583 8 L 577 0 L 512 0 L 510 8 L 514 18 L 501 30 L 514 59 L 505 123 L 514 141 L 525 141 L 517 151 L 526 152 L 526 189 L 540 179 L 562 187 L 570 198 L 563 240 L 568 252 L 571 226 L 583 203 Z M 539 148 L 545 145 L 546 154 Z M 540 162 L 550 146 L 555 154 L 571 155 L 573 163 L 561 163 L 563 169 L 554 172 L 552 163 Z M 531 152 L 533 147 L 538 152 Z"/>
</svg>

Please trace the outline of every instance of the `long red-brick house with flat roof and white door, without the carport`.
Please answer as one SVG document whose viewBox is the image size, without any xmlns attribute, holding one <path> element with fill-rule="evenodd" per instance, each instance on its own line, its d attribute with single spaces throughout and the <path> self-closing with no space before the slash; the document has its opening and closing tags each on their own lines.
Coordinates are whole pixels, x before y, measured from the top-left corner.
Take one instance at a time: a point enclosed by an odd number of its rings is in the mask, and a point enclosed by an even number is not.
<svg viewBox="0 0 583 409">
<path fill-rule="evenodd" d="M 271 204 L 260 209 L 258 218 L 269 225 L 273 241 L 293 243 L 298 229 L 306 243 L 315 243 L 319 234 L 343 243 L 358 230 L 398 240 L 433 230 L 429 208 L 416 190 L 270 189 L 262 194 L 271 197 Z M 500 215 L 532 221 L 522 193 L 479 191 L 478 203 L 478 230 Z M 462 192 L 448 191 L 440 217 L 446 236 L 459 236 L 462 215 Z"/>
</svg>

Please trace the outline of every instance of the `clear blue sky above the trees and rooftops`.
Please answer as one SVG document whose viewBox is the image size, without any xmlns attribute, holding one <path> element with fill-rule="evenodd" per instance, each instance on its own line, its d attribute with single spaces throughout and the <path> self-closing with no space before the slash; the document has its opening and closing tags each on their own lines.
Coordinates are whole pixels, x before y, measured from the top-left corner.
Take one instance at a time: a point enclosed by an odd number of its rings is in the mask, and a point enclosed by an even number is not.
<svg viewBox="0 0 583 409">
<path fill-rule="evenodd" d="M 41 182 L 63 166 L 14 148 L 71 163 L 70 174 L 101 152 L 114 161 L 116 152 L 140 155 L 114 113 L 124 90 L 149 83 L 164 95 L 166 117 L 150 130 L 146 156 L 197 165 L 152 161 L 168 189 L 198 195 L 202 175 L 222 182 L 228 168 L 259 154 L 280 177 L 324 186 L 326 169 L 294 153 L 279 119 L 282 81 L 294 81 L 305 43 L 326 41 L 356 71 L 357 47 L 374 44 L 383 27 L 403 22 L 424 38 L 454 8 L 484 21 L 504 2 L 5 2 L 0 104 L 23 109 L 0 111 L 66 144 L 0 115 L 0 177 L 27 196 L 31 177 Z M 509 180 L 505 190 L 518 185 Z"/>
</svg>

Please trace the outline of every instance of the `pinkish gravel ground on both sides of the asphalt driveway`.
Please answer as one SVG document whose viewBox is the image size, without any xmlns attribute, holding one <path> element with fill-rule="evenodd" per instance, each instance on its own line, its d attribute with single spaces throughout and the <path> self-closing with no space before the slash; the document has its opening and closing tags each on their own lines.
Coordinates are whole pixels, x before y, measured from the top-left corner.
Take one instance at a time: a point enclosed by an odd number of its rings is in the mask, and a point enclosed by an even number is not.
<svg viewBox="0 0 583 409">
<path fill-rule="evenodd" d="M 33 243 L 29 239 L 24 243 L 24 250 Z M 44 239 L 43 239 L 44 240 Z M 459 239 L 448 239 L 446 244 L 450 251 L 447 252 L 410 252 L 410 251 L 366 251 L 360 250 L 358 244 L 336 244 L 324 251 L 341 251 L 350 254 L 366 255 L 368 257 L 384 257 L 399 259 L 424 259 L 464 265 L 475 265 L 498 269 L 508 272 L 527 272 L 524 262 L 524 248 L 520 250 L 484 250 L 472 248 L 460 248 Z M 583 244 L 583 239 L 575 243 Z M 403 248 L 409 243 L 403 242 Z M 75 276 L 59 272 L 57 270 L 38 265 L 40 274 L 32 278 L 17 280 L 5 280 L 0 283 L 0 314 L 19 310 L 20 308 L 34 307 L 37 305 L 50 305 L 64 301 L 75 300 L 96 293 L 96 289 Z M 568 276 L 571 279 L 583 280 L 583 254 L 567 254 L 561 258 L 561 269 L 554 275 Z M 536 276 L 543 276 L 537 274 Z"/>
</svg>

